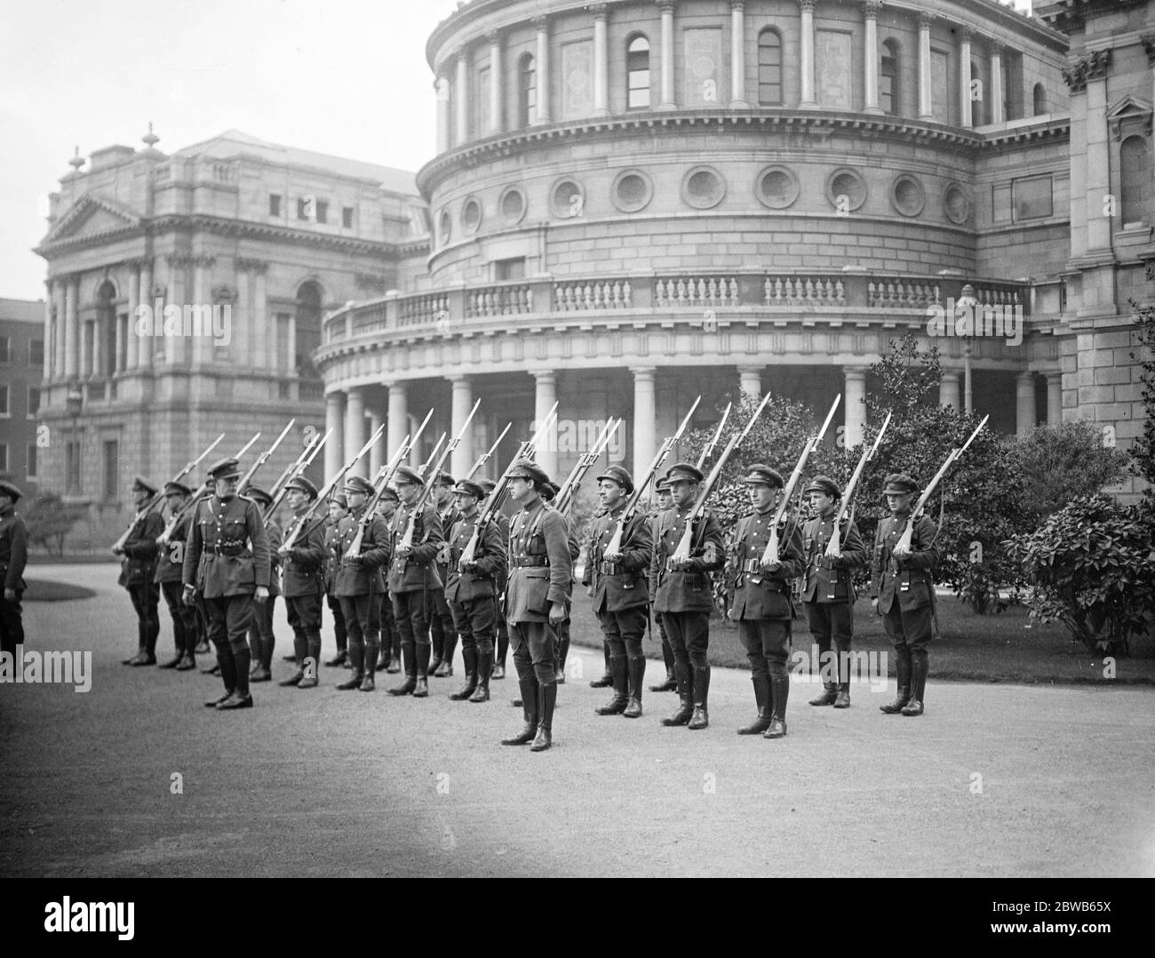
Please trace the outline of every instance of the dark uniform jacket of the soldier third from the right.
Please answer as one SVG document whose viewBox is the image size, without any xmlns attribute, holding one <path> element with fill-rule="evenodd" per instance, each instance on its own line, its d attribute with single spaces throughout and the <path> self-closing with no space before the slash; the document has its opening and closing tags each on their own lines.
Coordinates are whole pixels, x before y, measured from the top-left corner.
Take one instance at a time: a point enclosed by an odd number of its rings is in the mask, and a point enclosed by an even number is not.
<svg viewBox="0 0 1155 958">
<path fill-rule="evenodd" d="M 726 575 L 726 593 L 736 622 L 758 618 L 793 618 L 790 588 L 805 570 L 802 533 L 793 526 L 787 536 L 778 527 L 778 562 L 774 572 L 761 569 L 762 554 L 770 541 L 774 510 L 743 515 L 735 530 L 735 554 Z"/>
</svg>

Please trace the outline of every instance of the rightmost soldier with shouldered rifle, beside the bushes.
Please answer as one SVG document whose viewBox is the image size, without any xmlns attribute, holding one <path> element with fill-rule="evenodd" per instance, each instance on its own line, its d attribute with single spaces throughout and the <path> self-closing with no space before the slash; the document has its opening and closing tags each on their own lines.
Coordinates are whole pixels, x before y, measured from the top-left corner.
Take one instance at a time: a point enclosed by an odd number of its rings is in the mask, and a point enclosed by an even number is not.
<svg viewBox="0 0 1155 958">
<path fill-rule="evenodd" d="M 879 706 L 888 715 L 923 714 L 929 655 L 934 617 L 934 580 L 940 554 L 934 545 L 938 528 L 930 517 L 919 515 L 910 536 L 910 548 L 899 543 L 910 520 L 911 500 L 918 483 L 903 473 L 886 477 L 882 495 L 891 514 L 878 523 L 871 560 L 871 602 L 882 616 L 882 627 L 897 658 L 899 696 Z"/>
</svg>

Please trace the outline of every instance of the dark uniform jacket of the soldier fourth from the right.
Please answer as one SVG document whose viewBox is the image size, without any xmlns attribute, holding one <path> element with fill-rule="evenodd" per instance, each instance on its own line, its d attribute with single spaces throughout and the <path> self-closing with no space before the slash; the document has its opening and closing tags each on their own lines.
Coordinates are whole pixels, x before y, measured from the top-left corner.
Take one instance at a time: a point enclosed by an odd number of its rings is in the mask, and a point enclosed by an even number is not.
<svg viewBox="0 0 1155 958">
<path fill-rule="evenodd" d="M 724 563 L 722 527 L 714 513 L 703 510 L 694 525 L 690 566 L 677 572 L 666 567 L 666 562 L 681 542 L 691 508 L 668 508 L 657 518 L 649 575 L 654 610 L 657 612 L 706 612 L 714 608 L 709 573 Z"/>
</svg>

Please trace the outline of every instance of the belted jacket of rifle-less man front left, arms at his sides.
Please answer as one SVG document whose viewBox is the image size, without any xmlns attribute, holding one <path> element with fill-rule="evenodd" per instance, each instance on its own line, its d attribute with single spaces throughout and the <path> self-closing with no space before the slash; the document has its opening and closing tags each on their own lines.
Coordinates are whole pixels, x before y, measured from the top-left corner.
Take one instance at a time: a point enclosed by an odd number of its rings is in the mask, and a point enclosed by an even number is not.
<svg viewBox="0 0 1155 958">
<path fill-rule="evenodd" d="M 185 549 L 186 586 L 202 585 L 206 599 L 252 595 L 269 586 L 269 537 L 261 510 L 245 496 L 198 503 Z"/>
</svg>

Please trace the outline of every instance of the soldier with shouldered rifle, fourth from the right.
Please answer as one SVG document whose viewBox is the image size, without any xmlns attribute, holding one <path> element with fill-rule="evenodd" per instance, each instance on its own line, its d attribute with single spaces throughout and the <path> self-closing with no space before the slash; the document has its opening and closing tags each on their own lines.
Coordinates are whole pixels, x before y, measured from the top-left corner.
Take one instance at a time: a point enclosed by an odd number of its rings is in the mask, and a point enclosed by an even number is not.
<svg viewBox="0 0 1155 958">
<path fill-rule="evenodd" d="M 673 507 L 658 517 L 650 580 L 654 611 L 665 623 L 665 634 L 673 648 L 673 669 L 678 678 L 679 708 L 664 726 L 692 729 L 709 725 L 708 697 L 710 664 L 706 652 L 710 643 L 710 609 L 714 591 L 709 573 L 723 564 L 722 527 L 708 510 L 694 526 L 688 559 L 673 557 L 686 530 L 686 517 L 698 498 L 701 470 L 690 462 L 676 462 L 665 474 Z"/>
</svg>

